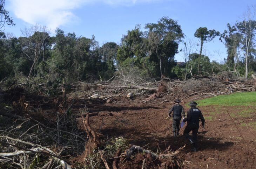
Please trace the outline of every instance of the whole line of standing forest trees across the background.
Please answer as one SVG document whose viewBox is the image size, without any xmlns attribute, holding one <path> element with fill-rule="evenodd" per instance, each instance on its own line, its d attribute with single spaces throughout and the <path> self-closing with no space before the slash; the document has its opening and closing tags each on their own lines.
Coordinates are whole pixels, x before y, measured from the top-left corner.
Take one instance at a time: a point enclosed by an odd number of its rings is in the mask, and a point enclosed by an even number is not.
<svg viewBox="0 0 256 169">
<path fill-rule="evenodd" d="M 50 83 L 71 83 L 109 79 L 122 71 L 136 71 L 141 78 L 169 77 L 186 80 L 191 75 L 211 75 L 223 71 L 237 77 L 250 77 L 256 71 L 256 21 L 245 18 L 227 24 L 222 33 L 200 27 L 194 37 L 186 39 L 181 26 L 169 17 L 157 23 L 140 25 L 123 35 L 121 44 L 107 42 L 102 46 L 92 36 L 76 36 L 57 28 L 55 36 L 45 26 L 21 30 L 21 37 L 1 31 L 0 80 L 47 77 Z M 210 61 L 203 45 L 218 38 L 227 48 L 224 62 Z M 181 50 L 179 50 L 181 45 Z M 198 48 L 198 49 L 197 49 Z M 197 49 L 197 50 L 196 50 Z M 185 64 L 177 64 L 181 52 Z"/>
</svg>

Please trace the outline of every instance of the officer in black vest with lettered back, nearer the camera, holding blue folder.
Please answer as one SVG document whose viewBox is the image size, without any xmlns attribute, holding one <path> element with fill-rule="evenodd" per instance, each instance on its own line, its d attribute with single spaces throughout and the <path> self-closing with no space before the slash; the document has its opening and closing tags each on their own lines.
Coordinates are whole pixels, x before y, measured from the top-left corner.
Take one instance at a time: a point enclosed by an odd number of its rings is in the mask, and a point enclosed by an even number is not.
<svg viewBox="0 0 256 169">
<path fill-rule="evenodd" d="M 183 119 L 183 121 L 187 121 L 188 124 L 184 129 L 184 136 L 189 140 L 190 144 L 194 147 L 192 150 L 196 152 L 197 146 L 197 132 L 199 129 L 199 119 L 202 121 L 202 128 L 204 128 L 204 118 L 202 112 L 196 107 L 197 103 L 195 101 L 191 101 L 189 106 L 191 107 L 188 111 L 187 118 Z M 189 132 L 192 131 L 192 139 Z"/>
</svg>

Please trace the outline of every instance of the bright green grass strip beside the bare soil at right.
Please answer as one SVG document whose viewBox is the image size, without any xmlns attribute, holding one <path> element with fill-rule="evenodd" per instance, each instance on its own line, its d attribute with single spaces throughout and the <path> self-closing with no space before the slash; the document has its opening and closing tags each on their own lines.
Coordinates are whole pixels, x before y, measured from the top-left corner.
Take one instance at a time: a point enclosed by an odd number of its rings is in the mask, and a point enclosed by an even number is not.
<svg viewBox="0 0 256 169">
<path fill-rule="evenodd" d="M 198 106 L 256 106 L 256 92 L 233 93 L 197 100 Z"/>
</svg>

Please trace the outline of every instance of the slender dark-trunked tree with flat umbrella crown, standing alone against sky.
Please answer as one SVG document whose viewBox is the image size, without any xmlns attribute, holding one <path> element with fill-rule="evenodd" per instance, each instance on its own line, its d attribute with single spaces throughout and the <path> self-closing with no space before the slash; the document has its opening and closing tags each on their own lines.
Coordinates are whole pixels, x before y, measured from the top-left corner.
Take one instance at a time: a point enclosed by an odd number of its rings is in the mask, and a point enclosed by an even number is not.
<svg viewBox="0 0 256 169">
<path fill-rule="evenodd" d="M 199 60 L 198 60 L 198 74 L 200 72 L 200 62 L 201 62 L 201 56 L 202 56 L 202 50 L 203 50 L 203 43 L 207 43 L 212 41 L 216 36 L 219 36 L 220 32 L 216 30 L 208 30 L 206 27 L 200 27 L 196 30 L 194 36 L 198 38 L 200 42 L 200 53 L 199 53 Z"/>
</svg>

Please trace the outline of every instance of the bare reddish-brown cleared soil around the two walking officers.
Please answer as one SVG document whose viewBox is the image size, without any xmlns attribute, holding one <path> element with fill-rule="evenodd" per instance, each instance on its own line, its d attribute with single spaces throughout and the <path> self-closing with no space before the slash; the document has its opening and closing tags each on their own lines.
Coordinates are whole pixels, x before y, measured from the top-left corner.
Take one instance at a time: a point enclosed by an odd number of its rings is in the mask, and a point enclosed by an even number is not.
<svg viewBox="0 0 256 169">
<path fill-rule="evenodd" d="M 171 119 L 166 119 L 170 103 L 160 104 L 156 99 L 151 103 L 139 103 L 139 99 L 130 100 L 123 97 L 116 103 L 87 104 L 89 112 L 98 112 L 98 116 L 90 117 L 90 125 L 96 132 L 101 127 L 101 138 L 123 136 L 130 143 L 138 146 L 146 146 L 154 152 L 163 152 L 170 145 L 173 151 L 188 144 L 183 135 L 174 138 L 171 131 Z M 181 103 L 183 106 L 186 101 Z M 81 107 L 82 101 L 74 105 Z M 185 107 L 185 110 L 188 108 Z M 183 160 L 183 168 L 254 168 L 256 151 L 256 129 L 252 126 L 243 127 L 242 124 L 255 122 L 256 108 L 251 107 L 254 113 L 250 117 L 234 118 L 243 138 L 237 131 L 234 123 L 227 114 L 227 110 L 238 113 L 237 107 L 215 106 L 200 107 L 205 117 L 211 115 L 212 119 L 206 119 L 205 129 L 198 132 L 198 152 L 191 152 L 191 147 L 186 146 L 177 158 Z M 242 108 L 242 107 L 239 107 Z M 211 112 L 216 112 L 210 114 Z M 82 123 L 79 124 L 82 128 Z M 182 134 L 184 127 L 181 129 Z M 248 149 L 249 148 L 249 149 Z M 147 154 L 138 154 L 135 159 L 121 163 L 121 168 L 141 168 L 143 159 L 149 161 Z M 177 166 L 173 166 L 177 168 Z M 152 165 L 152 168 L 172 168 L 170 161 L 160 161 Z"/>
</svg>

